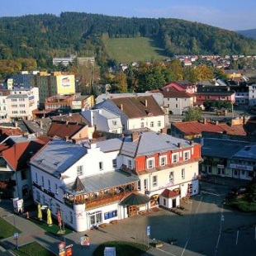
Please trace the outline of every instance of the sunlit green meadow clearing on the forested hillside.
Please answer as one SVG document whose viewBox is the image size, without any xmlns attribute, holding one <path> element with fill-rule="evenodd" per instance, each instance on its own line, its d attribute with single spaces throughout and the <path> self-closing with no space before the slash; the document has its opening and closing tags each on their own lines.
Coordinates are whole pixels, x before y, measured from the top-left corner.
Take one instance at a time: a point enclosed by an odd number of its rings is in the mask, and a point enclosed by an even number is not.
<svg viewBox="0 0 256 256">
<path fill-rule="evenodd" d="M 118 63 L 166 58 L 159 41 L 147 37 L 111 38 L 107 40 L 106 49 L 109 57 Z"/>
</svg>

